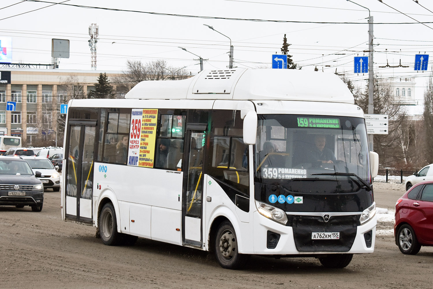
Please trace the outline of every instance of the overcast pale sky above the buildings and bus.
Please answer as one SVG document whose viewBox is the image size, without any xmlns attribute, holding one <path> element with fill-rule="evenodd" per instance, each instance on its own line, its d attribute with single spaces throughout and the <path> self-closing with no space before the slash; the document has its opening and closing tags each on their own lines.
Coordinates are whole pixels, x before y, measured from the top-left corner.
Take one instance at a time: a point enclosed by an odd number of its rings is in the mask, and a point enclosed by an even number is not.
<svg viewBox="0 0 433 289">
<path fill-rule="evenodd" d="M 414 58 L 415 54 L 430 54 L 433 23 L 423 25 L 417 21 L 433 22 L 433 1 L 353 2 L 367 7 L 374 17 L 374 71 L 384 78 L 417 77 L 417 86 L 422 87 L 429 73 L 414 71 Z M 13 63 L 51 63 L 51 39 L 58 38 L 70 40 L 70 58 L 61 58 L 59 68 L 90 70 L 88 27 L 96 23 L 98 71 L 125 70 L 127 59 L 164 59 L 171 67 L 185 67 L 196 74 L 200 70 L 199 61 L 194 60 L 197 56 L 178 46 L 208 59 L 204 69 L 224 69 L 229 62 L 229 39 L 203 25 L 207 24 L 231 39 L 237 67 L 271 67 L 271 56 L 281 54 L 283 36 L 287 34 L 289 54 L 302 69 L 317 66 L 320 71 L 337 71 L 353 81 L 368 77 L 353 73 L 353 57 L 368 56 L 368 52 L 362 52 L 368 49 L 368 10 L 346 0 L 69 0 L 64 4 L 140 12 L 57 4 L 25 13 L 52 4 L 2 0 L 0 36 L 12 37 Z M 387 64 L 387 58 L 389 65 L 399 65 L 401 59 L 402 65 L 410 67 L 379 68 Z"/>
</svg>

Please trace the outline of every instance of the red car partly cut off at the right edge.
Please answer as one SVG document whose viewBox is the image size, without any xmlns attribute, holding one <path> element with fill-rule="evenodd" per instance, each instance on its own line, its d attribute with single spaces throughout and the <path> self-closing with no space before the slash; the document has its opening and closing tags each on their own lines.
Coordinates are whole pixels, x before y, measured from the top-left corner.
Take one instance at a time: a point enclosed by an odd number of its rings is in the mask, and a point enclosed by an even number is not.
<svg viewBox="0 0 433 289">
<path fill-rule="evenodd" d="M 401 253 L 415 255 L 433 246 L 433 181 L 410 188 L 395 204 L 395 244 Z"/>
</svg>

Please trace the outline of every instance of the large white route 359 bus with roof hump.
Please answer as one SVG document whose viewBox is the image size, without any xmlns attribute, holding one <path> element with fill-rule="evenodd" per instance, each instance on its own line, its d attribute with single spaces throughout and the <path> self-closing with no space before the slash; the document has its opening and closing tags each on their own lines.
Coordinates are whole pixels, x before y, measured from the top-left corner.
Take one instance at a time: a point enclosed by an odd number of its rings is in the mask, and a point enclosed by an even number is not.
<svg viewBox="0 0 433 289">
<path fill-rule="evenodd" d="M 69 102 L 63 219 L 106 245 L 213 251 L 229 269 L 252 254 L 342 268 L 373 252 L 378 156 L 336 75 L 202 71 L 125 98 Z"/>
</svg>

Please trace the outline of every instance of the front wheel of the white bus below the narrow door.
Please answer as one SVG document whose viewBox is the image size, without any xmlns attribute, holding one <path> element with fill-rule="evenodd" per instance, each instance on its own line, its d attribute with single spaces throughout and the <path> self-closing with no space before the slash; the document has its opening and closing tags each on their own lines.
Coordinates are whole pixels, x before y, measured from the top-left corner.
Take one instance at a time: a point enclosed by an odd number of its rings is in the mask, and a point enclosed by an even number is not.
<svg viewBox="0 0 433 289">
<path fill-rule="evenodd" d="M 216 232 L 215 257 L 226 269 L 240 269 L 249 259 L 249 255 L 238 252 L 236 233 L 229 221 L 223 222 Z"/>
</svg>

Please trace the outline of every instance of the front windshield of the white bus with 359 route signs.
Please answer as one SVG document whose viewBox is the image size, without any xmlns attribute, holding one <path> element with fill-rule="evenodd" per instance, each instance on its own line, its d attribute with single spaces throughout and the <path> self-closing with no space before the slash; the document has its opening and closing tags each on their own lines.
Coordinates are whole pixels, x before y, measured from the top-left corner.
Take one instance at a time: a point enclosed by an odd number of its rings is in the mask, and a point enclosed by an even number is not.
<svg viewBox="0 0 433 289">
<path fill-rule="evenodd" d="M 264 185 L 268 192 L 258 196 L 262 201 L 272 189 L 281 189 L 284 195 L 335 195 L 327 200 L 335 198 L 337 203 L 341 193 L 363 195 L 359 198 L 364 204 L 357 201 L 345 210 L 372 203 L 365 195 L 371 191 L 371 179 L 365 121 L 359 117 L 259 115 L 254 168 L 257 186 Z M 332 210 L 326 202 L 323 209 Z"/>
</svg>

